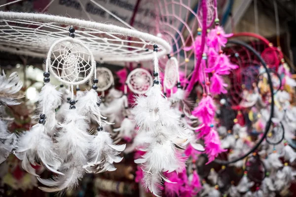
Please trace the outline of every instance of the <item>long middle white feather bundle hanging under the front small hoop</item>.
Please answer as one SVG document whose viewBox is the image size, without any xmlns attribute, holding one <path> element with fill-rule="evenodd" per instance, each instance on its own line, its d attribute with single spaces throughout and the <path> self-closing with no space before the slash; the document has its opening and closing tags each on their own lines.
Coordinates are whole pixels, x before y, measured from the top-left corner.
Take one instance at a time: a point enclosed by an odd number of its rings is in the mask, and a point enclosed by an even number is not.
<svg viewBox="0 0 296 197">
<path fill-rule="evenodd" d="M 56 137 L 56 146 L 64 162 L 60 170 L 65 175 L 55 177 L 53 180 L 38 179 L 42 184 L 49 186 L 49 188 L 40 187 L 45 192 L 72 189 L 77 185 L 84 174 L 83 165 L 87 163 L 87 154 L 93 139 L 93 136 L 87 132 L 86 117 L 77 110 L 67 113 L 64 122 L 58 127 L 60 131 Z"/>
</svg>

